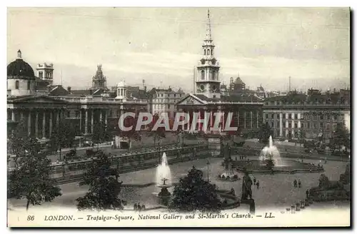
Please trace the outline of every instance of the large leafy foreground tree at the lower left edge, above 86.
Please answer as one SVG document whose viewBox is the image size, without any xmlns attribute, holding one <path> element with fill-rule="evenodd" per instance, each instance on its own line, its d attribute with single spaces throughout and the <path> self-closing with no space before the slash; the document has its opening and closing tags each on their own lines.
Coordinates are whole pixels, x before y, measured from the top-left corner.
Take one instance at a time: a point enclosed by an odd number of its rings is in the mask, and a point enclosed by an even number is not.
<svg viewBox="0 0 357 234">
<path fill-rule="evenodd" d="M 34 138 L 27 138 L 21 151 L 17 151 L 17 166 L 9 172 L 8 195 L 25 198 L 26 210 L 29 205 L 41 205 L 61 195 L 61 189 L 49 180 L 51 161 L 44 153 L 39 153 L 39 143 Z M 19 144 L 19 143 L 16 143 Z"/>
</svg>

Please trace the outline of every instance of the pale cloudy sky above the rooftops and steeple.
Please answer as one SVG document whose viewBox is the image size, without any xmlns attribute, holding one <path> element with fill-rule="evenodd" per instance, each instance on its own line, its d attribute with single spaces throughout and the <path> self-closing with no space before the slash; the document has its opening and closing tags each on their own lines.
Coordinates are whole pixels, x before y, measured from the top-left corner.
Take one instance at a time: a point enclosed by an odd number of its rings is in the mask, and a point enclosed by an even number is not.
<svg viewBox="0 0 357 234">
<path fill-rule="evenodd" d="M 255 89 L 344 88 L 350 83 L 348 8 L 211 8 L 220 80 Z M 89 88 L 102 64 L 121 80 L 191 92 L 207 8 L 9 8 L 7 63 L 54 63 L 54 83 Z"/>
</svg>

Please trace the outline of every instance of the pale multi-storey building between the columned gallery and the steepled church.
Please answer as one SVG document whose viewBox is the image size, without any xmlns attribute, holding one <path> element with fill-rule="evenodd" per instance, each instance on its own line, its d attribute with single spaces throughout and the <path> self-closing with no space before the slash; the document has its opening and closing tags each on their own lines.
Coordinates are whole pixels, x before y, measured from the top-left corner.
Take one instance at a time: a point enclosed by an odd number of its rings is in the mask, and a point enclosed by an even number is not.
<svg viewBox="0 0 357 234">
<path fill-rule="evenodd" d="M 174 118 L 176 103 L 180 101 L 185 93 L 180 89 L 174 91 L 172 88 L 153 88 L 150 91 L 150 111 L 154 114 L 168 113 L 169 118 Z"/>
</svg>

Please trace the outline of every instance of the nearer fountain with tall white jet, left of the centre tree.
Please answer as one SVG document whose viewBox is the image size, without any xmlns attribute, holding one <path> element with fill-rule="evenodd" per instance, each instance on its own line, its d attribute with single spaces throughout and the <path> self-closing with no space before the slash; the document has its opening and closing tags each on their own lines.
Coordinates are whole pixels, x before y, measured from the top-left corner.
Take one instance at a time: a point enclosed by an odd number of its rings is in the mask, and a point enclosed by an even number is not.
<svg viewBox="0 0 357 234">
<path fill-rule="evenodd" d="M 166 153 L 163 153 L 161 164 L 156 168 L 156 187 L 161 188 L 158 193 L 159 203 L 168 205 L 171 193 L 167 188 L 172 187 L 171 170 L 167 161 Z"/>
</svg>

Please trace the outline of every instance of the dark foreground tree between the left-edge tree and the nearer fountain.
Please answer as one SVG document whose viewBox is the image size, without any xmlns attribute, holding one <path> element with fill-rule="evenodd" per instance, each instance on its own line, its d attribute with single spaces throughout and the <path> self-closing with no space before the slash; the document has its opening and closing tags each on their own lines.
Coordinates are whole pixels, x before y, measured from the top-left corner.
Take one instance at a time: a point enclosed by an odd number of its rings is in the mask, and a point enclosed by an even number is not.
<svg viewBox="0 0 357 234">
<path fill-rule="evenodd" d="M 111 160 L 102 151 L 98 151 L 91 162 L 84 180 L 79 185 L 89 185 L 84 197 L 77 198 L 79 210 L 121 210 L 121 183 L 118 182 L 119 171 L 111 168 Z"/>
</svg>

